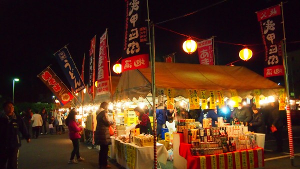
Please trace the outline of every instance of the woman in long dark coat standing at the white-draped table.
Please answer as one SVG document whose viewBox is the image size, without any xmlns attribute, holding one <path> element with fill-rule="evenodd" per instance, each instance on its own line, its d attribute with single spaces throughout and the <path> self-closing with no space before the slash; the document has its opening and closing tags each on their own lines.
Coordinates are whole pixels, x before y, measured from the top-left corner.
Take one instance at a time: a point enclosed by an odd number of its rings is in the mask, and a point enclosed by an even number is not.
<svg viewBox="0 0 300 169">
<path fill-rule="evenodd" d="M 99 168 L 110 168 L 107 164 L 107 153 L 108 145 L 111 144 L 109 126 L 115 124 L 115 120 L 108 120 L 108 103 L 102 102 L 100 104 L 100 109 L 103 108 L 97 114 L 97 125 L 95 130 L 95 144 L 100 145 L 98 164 Z"/>
</svg>

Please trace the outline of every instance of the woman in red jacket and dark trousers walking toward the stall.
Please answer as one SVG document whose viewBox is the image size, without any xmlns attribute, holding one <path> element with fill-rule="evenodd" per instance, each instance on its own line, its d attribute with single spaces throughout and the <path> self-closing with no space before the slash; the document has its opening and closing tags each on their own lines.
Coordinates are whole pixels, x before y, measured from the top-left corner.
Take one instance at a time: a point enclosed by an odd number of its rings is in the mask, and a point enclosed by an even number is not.
<svg viewBox="0 0 300 169">
<path fill-rule="evenodd" d="M 69 130 L 69 138 L 72 140 L 73 143 L 73 150 L 71 152 L 71 157 L 68 163 L 78 163 L 78 161 L 84 160 L 84 158 L 80 157 L 79 154 L 79 138 L 81 137 L 80 134 L 78 133 L 81 131 L 83 128 L 79 126 L 79 123 L 76 122 L 75 120 L 75 115 L 77 114 L 76 109 L 72 108 L 67 115 L 65 119 L 65 124 L 67 125 L 67 128 Z M 76 154 L 77 160 L 74 159 L 74 156 Z"/>
</svg>

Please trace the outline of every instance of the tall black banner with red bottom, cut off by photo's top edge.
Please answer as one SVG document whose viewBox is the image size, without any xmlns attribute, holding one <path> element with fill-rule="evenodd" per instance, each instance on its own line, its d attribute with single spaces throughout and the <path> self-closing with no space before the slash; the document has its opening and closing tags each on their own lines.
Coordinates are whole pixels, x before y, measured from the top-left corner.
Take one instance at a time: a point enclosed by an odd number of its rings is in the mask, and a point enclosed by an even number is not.
<svg viewBox="0 0 300 169">
<path fill-rule="evenodd" d="M 125 0 L 122 72 L 149 66 L 146 0 Z"/>
</svg>

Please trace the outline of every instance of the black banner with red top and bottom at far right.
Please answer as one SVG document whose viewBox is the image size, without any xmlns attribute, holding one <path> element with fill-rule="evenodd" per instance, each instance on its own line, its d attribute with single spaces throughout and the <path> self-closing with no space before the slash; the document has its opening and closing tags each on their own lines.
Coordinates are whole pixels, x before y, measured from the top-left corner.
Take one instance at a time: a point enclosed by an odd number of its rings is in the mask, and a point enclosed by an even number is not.
<svg viewBox="0 0 300 169">
<path fill-rule="evenodd" d="M 283 25 L 280 5 L 256 12 L 264 44 L 264 77 L 284 75 L 282 64 Z"/>
</svg>

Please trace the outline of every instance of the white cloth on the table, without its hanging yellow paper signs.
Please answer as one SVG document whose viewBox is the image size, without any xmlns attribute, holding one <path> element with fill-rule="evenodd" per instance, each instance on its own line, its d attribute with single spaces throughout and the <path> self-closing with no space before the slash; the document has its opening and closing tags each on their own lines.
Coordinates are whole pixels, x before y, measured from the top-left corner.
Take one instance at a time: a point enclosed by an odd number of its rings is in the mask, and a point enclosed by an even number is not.
<svg viewBox="0 0 300 169">
<path fill-rule="evenodd" d="M 112 138 L 114 139 L 114 138 Z M 118 139 L 117 139 L 118 140 Z M 123 144 L 129 144 L 130 146 L 136 147 L 136 156 L 135 156 L 135 163 L 134 163 L 134 168 L 142 168 L 142 169 L 151 169 L 153 167 L 153 161 L 154 161 L 154 150 L 153 146 L 138 146 L 135 145 L 134 143 L 125 143 L 121 140 L 119 140 Z M 114 143 L 114 141 L 112 141 Z M 112 145 L 114 146 L 114 145 Z M 166 163 L 167 160 L 167 150 L 165 149 L 163 144 L 156 143 L 156 154 L 157 154 L 157 161 Z M 129 169 L 127 166 L 127 162 L 125 160 L 125 154 L 118 154 L 119 151 L 115 149 L 115 157 L 117 163 L 122 165 L 123 167 Z M 158 166 L 158 163 L 157 163 Z"/>
</svg>

